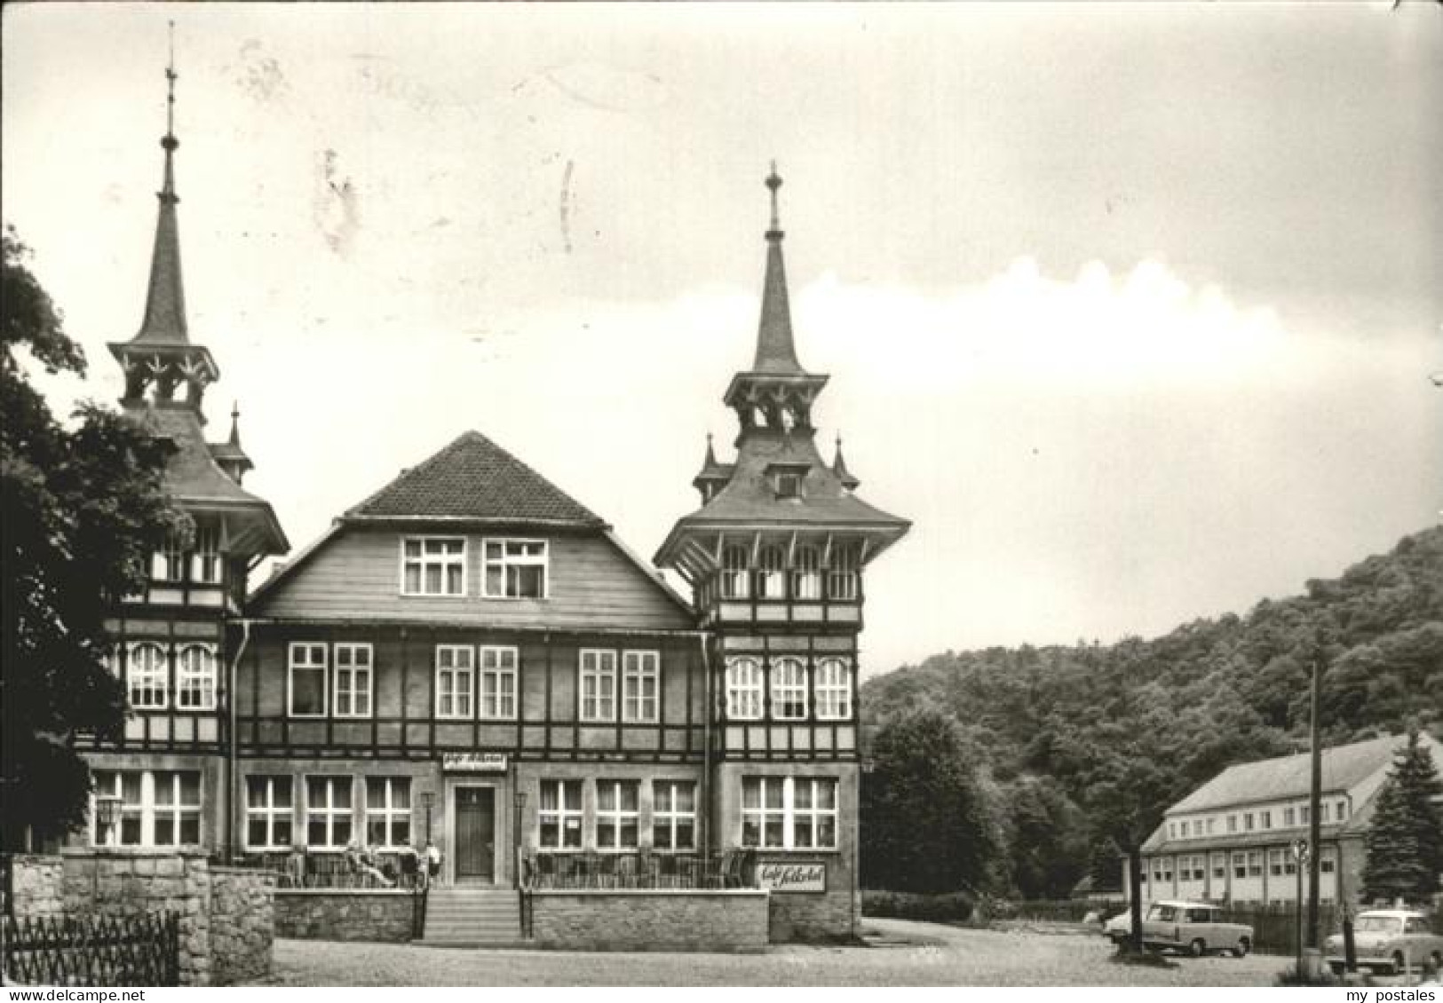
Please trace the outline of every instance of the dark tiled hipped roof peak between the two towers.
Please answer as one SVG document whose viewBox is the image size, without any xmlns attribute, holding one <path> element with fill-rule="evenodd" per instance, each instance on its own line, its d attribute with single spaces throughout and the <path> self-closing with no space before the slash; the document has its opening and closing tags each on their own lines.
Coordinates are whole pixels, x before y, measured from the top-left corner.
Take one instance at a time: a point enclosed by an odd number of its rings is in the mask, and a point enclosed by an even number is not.
<svg viewBox="0 0 1443 1003">
<path fill-rule="evenodd" d="M 346 518 L 440 518 L 600 527 L 603 521 L 530 466 L 466 432 L 381 488 Z"/>
</svg>

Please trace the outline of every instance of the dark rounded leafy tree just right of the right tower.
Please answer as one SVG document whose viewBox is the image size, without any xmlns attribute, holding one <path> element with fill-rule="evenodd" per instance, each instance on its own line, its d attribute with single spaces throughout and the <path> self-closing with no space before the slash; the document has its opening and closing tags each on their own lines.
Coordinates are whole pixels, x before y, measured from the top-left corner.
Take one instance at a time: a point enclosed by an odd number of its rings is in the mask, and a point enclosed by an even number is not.
<svg viewBox="0 0 1443 1003">
<path fill-rule="evenodd" d="M 861 778 L 861 877 L 898 892 L 980 892 L 996 824 L 957 726 L 935 710 L 889 722 Z"/>
</svg>

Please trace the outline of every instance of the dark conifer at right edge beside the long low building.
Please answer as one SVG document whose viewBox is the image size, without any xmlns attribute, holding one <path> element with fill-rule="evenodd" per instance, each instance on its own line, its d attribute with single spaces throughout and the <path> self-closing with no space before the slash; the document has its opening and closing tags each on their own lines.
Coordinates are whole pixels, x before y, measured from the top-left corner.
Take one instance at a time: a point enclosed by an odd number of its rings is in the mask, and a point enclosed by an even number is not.
<svg viewBox="0 0 1443 1003">
<path fill-rule="evenodd" d="M 1437 893 L 1443 873 L 1443 811 L 1434 798 L 1440 795 L 1443 781 L 1433 756 L 1418 742 L 1418 730 L 1410 729 L 1408 745 L 1392 762 L 1368 828 L 1365 898 L 1429 902 Z"/>
</svg>

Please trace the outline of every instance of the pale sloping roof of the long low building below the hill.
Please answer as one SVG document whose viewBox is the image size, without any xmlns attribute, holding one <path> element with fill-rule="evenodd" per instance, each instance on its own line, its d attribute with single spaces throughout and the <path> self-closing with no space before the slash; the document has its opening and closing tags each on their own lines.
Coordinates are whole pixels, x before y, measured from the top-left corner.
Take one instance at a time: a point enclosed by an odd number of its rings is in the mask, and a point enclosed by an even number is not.
<svg viewBox="0 0 1443 1003">
<path fill-rule="evenodd" d="M 1332 749 L 1323 749 L 1323 791 L 1346 791 L 1354 785 L 1385 769 L 1392 762 L 1392 752 L 1408 743 L 1405 735 L 1388 735 L 1381 739 L 1354 742 Z M 1303 798 L 1310 788 L 1310 756 L 1303 752 L 1296 756 L 1261 759 L 1258 762 L 1228 766 L 1211 781 L 1167 810 L 1169 815 L 1189 811 L 1208 811 L 1234 804 L 1273 801 L 1276 798 Z"/>
</svg>

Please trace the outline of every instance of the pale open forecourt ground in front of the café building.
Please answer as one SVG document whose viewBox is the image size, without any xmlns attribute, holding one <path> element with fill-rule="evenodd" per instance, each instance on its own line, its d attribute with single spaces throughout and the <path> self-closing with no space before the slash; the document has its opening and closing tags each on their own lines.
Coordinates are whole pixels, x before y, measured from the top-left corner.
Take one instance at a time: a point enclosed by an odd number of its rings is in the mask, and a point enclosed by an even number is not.
<svg viewBox="0 0 1443 1003">
<path fill-rule="evenodd" d="M 1291 958 L 1108 961 L 1098 935 L 872 919 L 886 947 L 778 945 L 765 954 L 603 954 L 276 941 L 274 986 L 1271 986 Z"/>
</svg>

